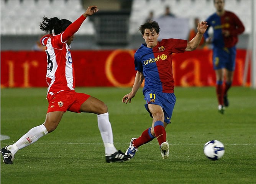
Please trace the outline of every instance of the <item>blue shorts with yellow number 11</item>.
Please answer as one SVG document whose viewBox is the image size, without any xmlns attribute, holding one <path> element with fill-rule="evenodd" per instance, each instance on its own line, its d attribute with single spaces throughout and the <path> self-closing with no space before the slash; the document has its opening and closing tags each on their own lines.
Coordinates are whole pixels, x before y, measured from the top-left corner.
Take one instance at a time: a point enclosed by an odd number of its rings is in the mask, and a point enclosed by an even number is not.
<svg viewBox="0 0 256 184">
<path fill-rule="evenodd" d="M 144 100 L 146 100 L 145 107 L 152 117 L 151 112 L 148 109 L 148 104 L 156 104 L 162 107 L 164 111 L 164 122 L 170 123 L 172 117 L 172 111 L 176 102 L 176 96 L 174 93 L 161 93 L 152 90 L 145 91 Z"/>
</svg>

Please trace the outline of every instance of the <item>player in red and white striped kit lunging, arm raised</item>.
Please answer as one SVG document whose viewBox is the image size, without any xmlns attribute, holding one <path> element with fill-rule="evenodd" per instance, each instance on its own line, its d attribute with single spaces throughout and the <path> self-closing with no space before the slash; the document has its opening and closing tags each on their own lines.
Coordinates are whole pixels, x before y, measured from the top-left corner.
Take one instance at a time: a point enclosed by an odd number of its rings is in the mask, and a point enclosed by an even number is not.
<svg viewBox="0 0 256 184">
<path fill-rule="evenodd" d="M 48 83 L 48 111 L 43 124 L 33 127 L 13 145 L 1 149 L 3 161 L 12 164 L 15 153 L 36 142 L 40 137 L 53 132 L 66 111 L 90 112 L 97 114 L 98 128 L 105 147 L 106 161 L 125 161 L 131 156 L 117 150 L 113 144 L 113 132 L 108 119 L 108 108 L 105 103 L 88 94 L 75 92 L 75 75 L 70 44 L 87 16 L 98 11 L 97 6 L 89 6 L 84 14 L 72 23 L 57 17 L 44 17 L 40 29 L 49 33 L 41 38 L 41 44 L 46 46 Z M 54 34 L 52 31 L 54 30 Z"/>
</svg>

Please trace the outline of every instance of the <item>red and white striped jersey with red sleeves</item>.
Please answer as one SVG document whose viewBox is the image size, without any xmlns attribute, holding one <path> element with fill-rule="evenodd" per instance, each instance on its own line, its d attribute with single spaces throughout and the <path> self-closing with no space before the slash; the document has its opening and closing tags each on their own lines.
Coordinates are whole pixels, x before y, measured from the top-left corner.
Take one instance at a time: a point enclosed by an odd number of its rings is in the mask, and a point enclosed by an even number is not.
<svg viewBox="0 0 256 184">
<path fill-rule="evenodd" d="M 66 44 L 69 37 L 78 31 L 85 17 L 81 15 L 70 24 L 65 31 L 58 35 L 48 34 L 41 38 L 41 44 L 46 46 L 47 72 L 46 83 L 48 93 L 75 89 L 75 73 L 70 53 L 70 46 Z"/>
</svg>

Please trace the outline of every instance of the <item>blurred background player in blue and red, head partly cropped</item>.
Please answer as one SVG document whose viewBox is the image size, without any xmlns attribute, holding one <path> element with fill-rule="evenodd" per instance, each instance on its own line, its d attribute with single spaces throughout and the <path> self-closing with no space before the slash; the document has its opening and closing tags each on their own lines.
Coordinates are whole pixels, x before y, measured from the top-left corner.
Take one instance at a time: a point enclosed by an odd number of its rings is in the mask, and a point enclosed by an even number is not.
<svg viewBox="0 0 256 184">
<path fill-rule="evenodd" d="M 224 113 L 228 106 L 227 91 L 229 90 L 235 70 L 236 43 L 238 35 L 245 31 L 240 19 L 232 12 L 224 10 L 225 0 L 213 0 L 216 12 L 207 18 L 208 28 L 213 28 L 213 38 L 209 37 L 208 29 L 204 34 L 206 43 L 213 44 L 213 68 L 216 73 L 216 93 L 218 110 Z M 226 69 L 226 82 L 223 86 Z"/>
</svg>

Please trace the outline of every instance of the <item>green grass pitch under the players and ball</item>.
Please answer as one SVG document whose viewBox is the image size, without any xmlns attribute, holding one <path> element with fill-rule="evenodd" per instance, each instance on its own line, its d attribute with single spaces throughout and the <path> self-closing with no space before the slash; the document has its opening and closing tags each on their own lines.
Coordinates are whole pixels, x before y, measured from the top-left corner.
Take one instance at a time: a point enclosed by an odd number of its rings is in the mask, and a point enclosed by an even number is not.
<svg viewBox="0 0 256 184">
<path fill-rule="evenodd" d="M 131 104 L 121 103 L 131 88 L 77 88 L 108 105 L 117 149 L 151 126 L 142 89 Z M 232 87 L 230 107 L 217 111 L 215 88 L 176 87 L 172 124 L 166 128 L 169 159 L 163 160 L 156 139 L 139 147 L 123 163 L 105 163 L 95 114 L 66 112 L 57 129 L 18 151 L 14 164 L 1 162 L 3 184 L 255 184 L 256 91 Z M 1 89 L 1 148 L 44 122 L 46 88 Z M 224 156 L 208 160 L 203 145 L 219 140 Z M 2 160 L 2 156 L 1 156 Z"/>
</svg>

